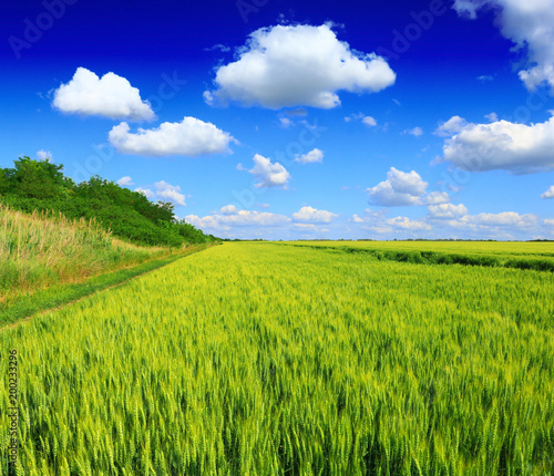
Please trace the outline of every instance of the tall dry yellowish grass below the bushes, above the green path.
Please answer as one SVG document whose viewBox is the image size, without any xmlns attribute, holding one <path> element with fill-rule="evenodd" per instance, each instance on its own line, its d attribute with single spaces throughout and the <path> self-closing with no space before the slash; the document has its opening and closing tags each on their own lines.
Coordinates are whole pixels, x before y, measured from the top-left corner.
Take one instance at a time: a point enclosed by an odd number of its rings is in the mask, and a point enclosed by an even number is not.
<svg viewBox="0 0 554 476">
<path fill-rule="evenodd" d="M 113 238 L 95 220 L 32 215 L 0 205 L 0 297 L 143 262 L 168 253 Z"/>
</svg>

